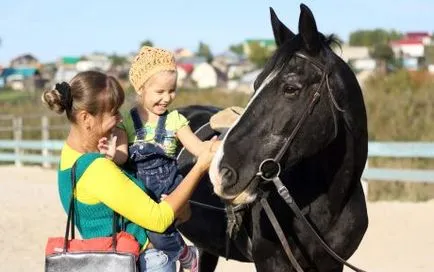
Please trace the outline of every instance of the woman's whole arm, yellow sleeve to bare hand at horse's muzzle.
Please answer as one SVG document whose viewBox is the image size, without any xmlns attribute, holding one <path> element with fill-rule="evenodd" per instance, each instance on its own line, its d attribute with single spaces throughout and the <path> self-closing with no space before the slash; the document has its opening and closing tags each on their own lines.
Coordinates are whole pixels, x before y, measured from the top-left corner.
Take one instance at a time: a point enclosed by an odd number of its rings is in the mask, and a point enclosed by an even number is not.
<svg viewBox="0 0 434 272">
<path fill-rule="evenodd" d="M 211 141 L 183 182 L 164 201 L 156 203 L 113 162 L 96 159 L 77 184 L 77 198 L 86 204 L 104 203 L 143 228 L 163 232 L 182 213 L 200 178 L 207 171 L 216 145 Z"/>
</svg>

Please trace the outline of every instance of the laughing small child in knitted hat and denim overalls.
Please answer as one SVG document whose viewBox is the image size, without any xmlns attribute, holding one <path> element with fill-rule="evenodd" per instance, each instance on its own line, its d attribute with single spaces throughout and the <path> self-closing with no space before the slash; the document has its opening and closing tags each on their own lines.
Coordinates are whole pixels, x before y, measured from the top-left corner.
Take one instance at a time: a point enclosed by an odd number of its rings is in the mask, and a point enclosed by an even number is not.
<svg viewBox="0 0 434 272">
<path fill-rule="evenodd" d="M 111 141 L 100 140 L 99 149 L 118 165 L 127 162 L 127 167 L 144 182 L 148 193 L 160 201 L 182 180 L 175 160 L 178 140 L 195 156 L 204 144 L 183 115 L 176 110 L 168 111 L 175 98 L 177 80 L 172 53 L 143 47 L 129 75 L 138 95 L 138 105 L 123 116 Z M 198 271 L 197 248 L 187 246 L 174 226 L 165 233 L 149 231 L 148 237 L 155 248 L 163 250 L 170 258 L 178 258 L 182 268 Z"/>
</svg>

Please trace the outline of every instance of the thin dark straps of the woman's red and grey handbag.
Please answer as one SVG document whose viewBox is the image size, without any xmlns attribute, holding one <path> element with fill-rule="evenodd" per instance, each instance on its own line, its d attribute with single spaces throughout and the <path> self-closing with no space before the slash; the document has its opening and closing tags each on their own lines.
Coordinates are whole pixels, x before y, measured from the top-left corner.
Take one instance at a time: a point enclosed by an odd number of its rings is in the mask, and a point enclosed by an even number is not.
<svg viewBox="0 0 434 272">
<path fill-rule="evenodd" d="M 80 157 L 81 158 L 81 157 Z M 63 243 L 63 253 L 67 252 L 68 244 L 69 244 L 69 234 L 71 234 L 71 239 L 75 239 L 75 201 L 74 201 L 74 191 L 77 185 L 77 163 L 79 161 L 78 158 L 71 167 L 71 199 L 69 201 L 68 208 L 68 218 L 66 219 L 66 231 L 65 231 L 65 239 Z M 113 252 L 116 252 L 117 239 L 116 235 L 118 232 L 118 221 L 119 218 L 121 220 L 122 230 L 125 230 L 124 218 L 119 215 L 117 212 L 113 211 L 113 230 L 112 230 L 112 249 Z"/>
</svg>

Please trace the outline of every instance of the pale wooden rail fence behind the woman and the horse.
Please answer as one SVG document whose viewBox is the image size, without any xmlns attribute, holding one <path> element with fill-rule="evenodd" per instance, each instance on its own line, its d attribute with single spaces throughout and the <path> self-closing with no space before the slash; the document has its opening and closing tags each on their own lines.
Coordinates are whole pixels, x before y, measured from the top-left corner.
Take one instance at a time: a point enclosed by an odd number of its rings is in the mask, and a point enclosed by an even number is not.
<svg viewBox="0 0 434 272">
<path fill-rule="evenodd" d="M 56 153 L 62 148 L 63 141 L 50 139 L 50 132 L 66 131 L 69 126 L 55 124 L 52 122 L 54 118 L 59 116 L 0 115 L 0 133 L 10 132 L 13 135 L 13 140 L 0 139 L 0 162 L 11 162 L 17 166 L 37 163 L 43 167 L 57 164 L 59 156 Z M 27 124 L 24 120 L 32 122 Z M 40 140 L 23 139 L 26 131 L 40 131 Z M 368 162 L 373 158 L 434 159 L 434 142 L 369 142 L 368 150 Z M 362 179 L 434 183 L 434 169 L 372 168 L 367 163 Z"/>
</svg>

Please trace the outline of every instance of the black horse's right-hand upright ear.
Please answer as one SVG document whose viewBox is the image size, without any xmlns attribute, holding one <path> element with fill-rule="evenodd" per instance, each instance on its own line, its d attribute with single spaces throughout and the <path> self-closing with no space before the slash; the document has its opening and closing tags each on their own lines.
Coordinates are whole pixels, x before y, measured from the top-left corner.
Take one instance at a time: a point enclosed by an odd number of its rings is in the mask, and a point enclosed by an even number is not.
<svg viewBox="0 0 434 272">
<path fill-rule="evenodd" d="M 300 33 L 305 48 L 309 53 L 316 54 L 320 49 L 320 36 L 316 27 L 312 11 L 304 4 L 300 5 L 300 19 L 298 21 Z"/>
</svg>

